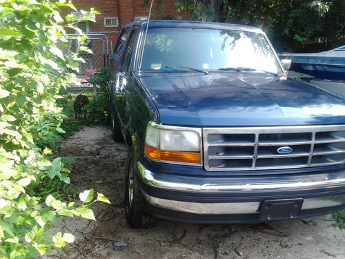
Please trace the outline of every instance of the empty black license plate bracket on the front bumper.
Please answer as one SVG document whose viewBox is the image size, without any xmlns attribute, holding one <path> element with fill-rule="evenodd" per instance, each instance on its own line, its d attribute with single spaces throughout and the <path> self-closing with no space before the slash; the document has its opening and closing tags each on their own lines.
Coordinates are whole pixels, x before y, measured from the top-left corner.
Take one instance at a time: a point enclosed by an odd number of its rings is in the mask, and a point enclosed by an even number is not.
<svg viewBox="0 0 345 259">
<path fill-rule="evenodd" d="M 260 220 L 287 220 L 296 218 L 302 208 L 303 199 L 264 200 L 260 209 Z"/>
</svg>

